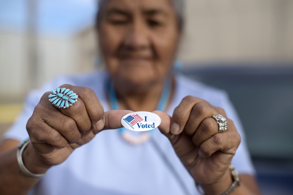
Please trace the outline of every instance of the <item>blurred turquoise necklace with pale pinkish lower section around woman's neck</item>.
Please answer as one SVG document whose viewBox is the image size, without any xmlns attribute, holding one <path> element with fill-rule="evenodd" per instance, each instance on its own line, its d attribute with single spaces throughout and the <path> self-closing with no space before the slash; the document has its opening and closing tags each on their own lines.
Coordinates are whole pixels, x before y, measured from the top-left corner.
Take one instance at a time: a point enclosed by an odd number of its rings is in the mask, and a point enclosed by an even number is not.
<svg viewBox="0 0 293 195">
<path fill-rule="evenodd" d="M 171 95 L 171 80 L 170 79 L 165 79 L 164 80 L 164 87 L 163 87 L 163 92 L 161 94 L 161 99 L 158 103 L 157 110 L 159 111 L 164 111 L 167 103 L 169 96 Z M 109 96 L 109 101 L 110 105 L 113 110 L 120 110 L 119 109 L 119 104 L 117 100 L 117 96 L 115 93 L 114 89 L 114 84 L 109 80 L 108 82 L 108 96 Z M 139 145 L 144 142 L 147 142 L 151 138 L 151 134 L 153 133 L 153 130 L 147 131 L 147 132 L 142 132 L 139 136 L 134 136 L 130 133 L 130 130 L 126 129 L 125 127 L 122 127 L 119 129 L 119 133 L 121 137 L 127 141 L 130 144 L 134 145 Z"/>
</svg>

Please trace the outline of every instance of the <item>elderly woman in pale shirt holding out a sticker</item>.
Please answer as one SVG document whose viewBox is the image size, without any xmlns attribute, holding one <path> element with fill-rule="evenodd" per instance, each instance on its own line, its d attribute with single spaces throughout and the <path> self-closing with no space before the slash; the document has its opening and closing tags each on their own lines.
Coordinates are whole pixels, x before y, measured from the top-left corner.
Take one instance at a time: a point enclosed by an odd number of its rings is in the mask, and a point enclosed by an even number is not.
<svg viewBox="0 0 293 195">
<path fill-rule="evenodd" d="M 172 73 L 182 1 L 104 0 L 99 8 L 107 72 L 60 76 L 30 93 L 3 137 L 0 194 L 259 194 L 227 95 Z M 53 105 L 46 91 L 57 87 L 77 102 Z M 122 128 L 133 111 L 162 122 L 144 133 Z"/>
</svg>

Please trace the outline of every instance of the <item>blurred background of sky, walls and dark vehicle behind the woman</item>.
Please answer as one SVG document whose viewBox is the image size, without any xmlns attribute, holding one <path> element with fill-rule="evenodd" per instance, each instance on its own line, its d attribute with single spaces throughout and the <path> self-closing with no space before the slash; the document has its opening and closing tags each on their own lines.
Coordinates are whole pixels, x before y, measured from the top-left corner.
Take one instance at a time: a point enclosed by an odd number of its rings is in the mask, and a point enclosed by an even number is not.
<svg viewBox="0 0 293 195">
<path fill-rule="evenodd" d="M 186 0 L 177 71 L 226 90 L 264 195 L 293 194 L 293 1 Z M 28 91 L 103 69 L 96 0 L 0 0 L 0 136 Z"/>
</svg>

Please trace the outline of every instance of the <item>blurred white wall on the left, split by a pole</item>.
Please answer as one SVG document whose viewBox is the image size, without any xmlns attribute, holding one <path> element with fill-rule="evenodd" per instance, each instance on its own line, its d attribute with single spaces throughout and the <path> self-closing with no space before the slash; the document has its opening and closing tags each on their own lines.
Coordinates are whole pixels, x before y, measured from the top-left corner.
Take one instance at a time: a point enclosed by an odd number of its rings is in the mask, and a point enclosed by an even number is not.
<svg viewBox="0 0 293 195">
<path fill-rule="evenodd" d="M 0 31 L 0 103 L 22 101 L 29 90 L 26 41 L 24 34 Z M 37 42 L 37 86 L 80 71 L 74 38 L 39 37 Z"/>
</svg>

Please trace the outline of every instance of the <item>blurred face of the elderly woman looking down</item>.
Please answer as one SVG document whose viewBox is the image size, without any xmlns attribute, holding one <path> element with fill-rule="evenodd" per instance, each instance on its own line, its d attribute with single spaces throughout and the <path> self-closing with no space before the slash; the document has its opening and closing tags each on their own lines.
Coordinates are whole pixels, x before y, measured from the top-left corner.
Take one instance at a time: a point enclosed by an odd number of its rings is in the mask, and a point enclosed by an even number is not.
<svg viewBox="0 0 293 195">
<path fill-rule="evenodd" d="M 116 82 L 161 81 L 180 39 L 171 0 L 108 0 L 98 26 L 100 48 Z"/>
</svg>

